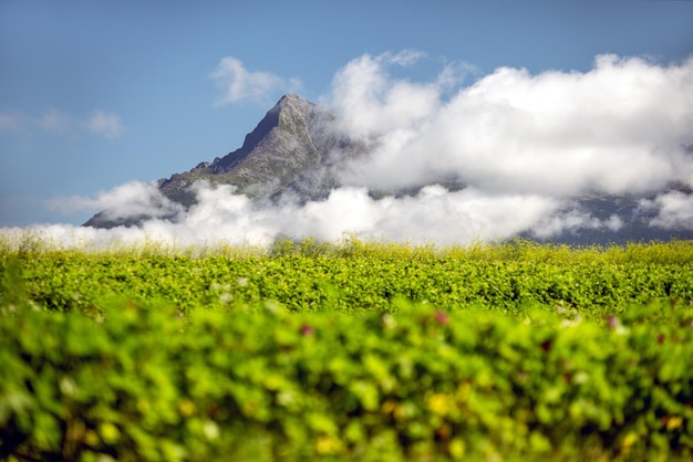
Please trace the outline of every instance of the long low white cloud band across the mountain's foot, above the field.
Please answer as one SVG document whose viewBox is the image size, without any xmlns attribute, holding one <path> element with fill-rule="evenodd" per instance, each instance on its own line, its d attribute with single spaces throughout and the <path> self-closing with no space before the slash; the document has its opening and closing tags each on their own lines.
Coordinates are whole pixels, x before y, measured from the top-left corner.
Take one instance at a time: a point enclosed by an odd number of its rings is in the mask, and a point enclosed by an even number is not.
<svg viewBox="0 0 693 462">
<path fill-rule="evenodd" d="M 438 186 L 416 197 L 374 200 L 364 188 L 339 188 L 322 201 L 258 207 L 234 188 L 195 187 L 198 203 L 188 211 L 161 196 L 154 185 L 130 182 L 95 198 L 55 200 L 54 209 L 106 210 L 108 218 L 151 214 L 139 229 L 104 230 L 35 227 L 44 239 L 61 246 L 97 246 L 123 241 L 159 241 L 169 244 L 268 245 L 279 235 L 338 240 L 345 233 L 364 239 L 452 244 L 500 240 L 529 229 L 557 210 L 552 199 L 532 196 L 487 196 L 474 189 L 448 192 Z M 167 214 L 176 214 L 166 221 Z M 11 230 L 3 230 L 3 233 Z"/>
</svg>

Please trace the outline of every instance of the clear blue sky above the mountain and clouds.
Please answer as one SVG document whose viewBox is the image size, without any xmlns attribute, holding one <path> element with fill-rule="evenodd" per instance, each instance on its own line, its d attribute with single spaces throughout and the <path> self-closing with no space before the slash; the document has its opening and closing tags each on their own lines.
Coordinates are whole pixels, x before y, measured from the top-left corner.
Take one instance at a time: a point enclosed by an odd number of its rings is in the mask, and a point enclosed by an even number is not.
<svg viewBox="0 0 693 462">
<path fill-rule="evenodd" d="M 312 101 L 363 55 L 420 52 L 465 85 L 501 66 L 588 72 L 597 55 L 693 53 L 689 1 L 0 1 L 0 227 L 224 156 L 287 92 Z M 216 77 L 215 77 L 216 76 Z"/>
</svg>

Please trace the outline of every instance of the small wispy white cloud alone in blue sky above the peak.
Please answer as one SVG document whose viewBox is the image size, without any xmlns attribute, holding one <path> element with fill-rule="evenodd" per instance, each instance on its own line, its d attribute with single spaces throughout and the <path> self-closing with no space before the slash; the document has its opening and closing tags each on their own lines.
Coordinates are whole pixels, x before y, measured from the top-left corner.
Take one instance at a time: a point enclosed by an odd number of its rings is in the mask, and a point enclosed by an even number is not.
<svg viewBox="0 0 693 462">
<path fill-rule="evenodd" d="M 242 62 L 232 56 L 223 57 L 211 73 L 215 84 L 221 90 L 217 105 L 239 103 L 245 99 L 266 104 L 272 92 L 298 91 L 298 78 L 286 80 L 269 72 L 250 72 Z"/>
</svg>

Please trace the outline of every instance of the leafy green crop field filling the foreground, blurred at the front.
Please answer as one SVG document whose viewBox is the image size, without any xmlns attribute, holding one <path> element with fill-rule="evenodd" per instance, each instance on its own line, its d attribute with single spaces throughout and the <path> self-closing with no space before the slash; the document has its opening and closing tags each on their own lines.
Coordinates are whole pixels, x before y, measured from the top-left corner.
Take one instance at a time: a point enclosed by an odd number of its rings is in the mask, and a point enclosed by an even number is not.
<svg viewBox="0 0 693 462">
<path fill-rule="evenodd" d="M 0 460 L 693 456 L 693 241 L 0 264 Z"/>
</svg>

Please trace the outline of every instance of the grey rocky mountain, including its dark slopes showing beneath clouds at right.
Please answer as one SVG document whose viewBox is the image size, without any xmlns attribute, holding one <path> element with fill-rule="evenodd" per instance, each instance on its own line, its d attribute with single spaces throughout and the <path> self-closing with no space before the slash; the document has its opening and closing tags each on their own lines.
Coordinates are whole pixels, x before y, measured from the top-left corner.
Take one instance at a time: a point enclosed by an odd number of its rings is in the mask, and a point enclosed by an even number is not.
<svg viewBox="0 0 693 462">
<path fill-rule="evenodd" d="M 693 147 L 690 148 L 693 154 Z M 206 180 L 211 186 L 232 185 L 236 193 L 242 193 L 257 201 L 281 201 L 290 197 L 292 201 L 306 203 L 321 200 L 340 186 L 340 170 L 344 161 L 368 156 L 365 141 L 351 139 L 340 129 L 337 115 L 324 107 L 302 97 L 285 95 L 250 132 L 242 146 L 213 161 L 198 164 L 189 171 L 174 174 L 158 181 L 163 196 L 148 198 L 156 202 L 154 214 L 116 216 L 113 211 L 102 211 L 84 225 L 113 228 L 137 225 L 151 218 L 175 219 L 177 214 L 196 201 L 193 185 Z M 448 191 L 464 189 L 465 185 L 455 179 L 438 179 L 436 183 Z M 422 187 L 410 187 L 397 191 L 369 190 L 373 198 L 383 196 L 413 196 Z M 673 185 L 669 191 L 679 191 L 686 197 L 693 195 L 691 188 Z M 663 191 L 660 191 L 663 192 Z M 552 242 L 571 244 L 604 244 L 641 240 L 693 239 L 690 229 L 663 229 L 651 227 L 654 212 L 648 212 L 641 204 L 654 200 L 639 196 L 583 196 L 575 198 L 571 210 L 580 210 L 599 222 L 617 218 L 621 223 L 618 232 L 608 227 L 582 227 L 552 237 Z M 151 213 L 151 212 L 148 212 Z M 538 239 L 527 233 L 524 238 Z"/>
</svg>

